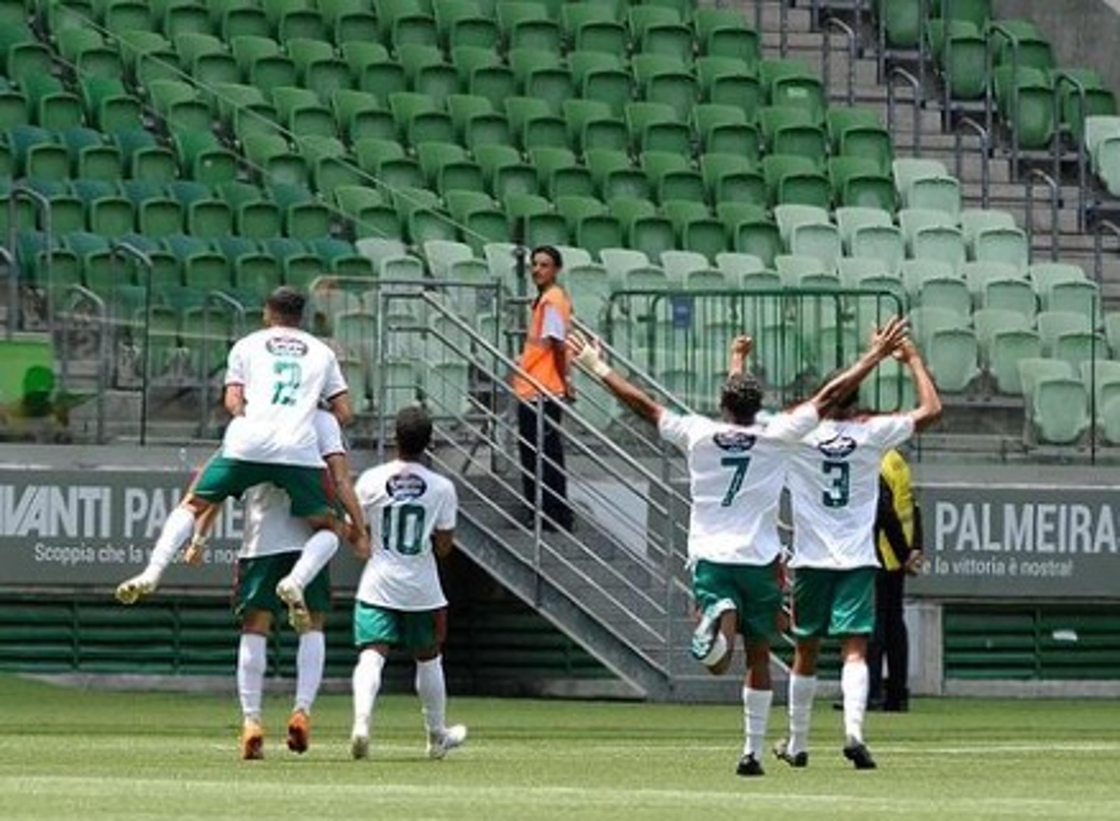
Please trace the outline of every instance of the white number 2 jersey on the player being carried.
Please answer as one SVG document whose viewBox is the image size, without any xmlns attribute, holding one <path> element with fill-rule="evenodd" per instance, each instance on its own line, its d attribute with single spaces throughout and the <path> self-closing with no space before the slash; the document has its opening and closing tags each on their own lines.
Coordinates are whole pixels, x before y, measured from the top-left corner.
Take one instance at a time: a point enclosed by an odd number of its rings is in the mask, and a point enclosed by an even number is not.
<svg viewBox="0 0 1120 821">
<path fill-rule="evenodd" d="M 244 388 L 245 414 L 226 428 L 223 456 L 323 467 L 311 419 L 346 391 L 334 351 L 299 328 L 262 328 L 230 351 L 225 383 Z"/>
</svg>

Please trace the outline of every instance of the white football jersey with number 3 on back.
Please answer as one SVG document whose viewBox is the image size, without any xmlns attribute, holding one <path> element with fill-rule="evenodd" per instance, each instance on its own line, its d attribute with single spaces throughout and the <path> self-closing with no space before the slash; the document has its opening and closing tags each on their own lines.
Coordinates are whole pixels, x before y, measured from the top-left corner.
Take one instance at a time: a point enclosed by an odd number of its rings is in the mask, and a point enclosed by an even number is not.
<svg viewBox="0 0 1120 821">
<path fill-rule="evenodd" d="M 875 567 L 879 463 L 914 436 L 909 416 L 824 420 L 794 450 L 788 486 L 793 504 L 790 567 L 847 570 Z"/>
</svg>

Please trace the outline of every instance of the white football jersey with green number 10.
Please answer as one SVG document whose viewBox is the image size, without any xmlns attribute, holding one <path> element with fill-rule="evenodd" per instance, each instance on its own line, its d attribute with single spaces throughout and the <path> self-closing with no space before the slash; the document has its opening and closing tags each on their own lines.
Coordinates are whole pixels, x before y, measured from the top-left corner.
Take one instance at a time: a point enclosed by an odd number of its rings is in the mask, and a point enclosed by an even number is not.
<svg viewBox="0 0 1120 821">
<path fill-rule="evenodd" d="M 451 481 L 419 463 L 394 459 L 366 470 L 354 489 L 372 535 L 357 598 L 394 610 L 445 607 L 431 534 L 455 529 L 458 500 Z"/>
</svg>

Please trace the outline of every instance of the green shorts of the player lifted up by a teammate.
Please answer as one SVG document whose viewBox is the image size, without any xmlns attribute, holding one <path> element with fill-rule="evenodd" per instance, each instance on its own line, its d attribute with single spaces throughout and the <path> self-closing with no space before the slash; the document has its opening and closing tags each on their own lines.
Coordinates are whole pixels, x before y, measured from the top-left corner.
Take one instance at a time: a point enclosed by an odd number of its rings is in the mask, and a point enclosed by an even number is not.
<svg viewBox="0 0 1120 821">
<path fill-rule="evenodd" d="M 288 492 L 293 516 L 317 516 L 335 510 L 329 474 L 321 467 L 271 465 L 214 456 L 198 474 L 192 492 L 199 498 L 217 503 L 264 484 L 273 484 Z"/>
</svg>

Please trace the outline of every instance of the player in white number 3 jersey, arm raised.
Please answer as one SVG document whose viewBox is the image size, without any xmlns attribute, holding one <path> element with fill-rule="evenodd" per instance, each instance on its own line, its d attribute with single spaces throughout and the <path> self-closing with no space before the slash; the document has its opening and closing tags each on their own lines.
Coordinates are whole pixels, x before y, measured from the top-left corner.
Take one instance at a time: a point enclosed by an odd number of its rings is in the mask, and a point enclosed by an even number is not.
<svg viewBox="0 0 1120 821">
<path fill-rule="evenodd" d="M 816 690 L 816 656 L 823 636 L 840 638 L 843 668 L 843 755 L 857 769 L 875 768 L 864 743 L 867 705 L 867 638 L 875 628 L 874 528 L 879 464 L 890 448 L 941 416 L 941 400 L 914 344 L 895 352 L 914 377 L 917 408 L 857 416 L 851 391 L 797 446 L 787 484 L 793 503 L 793 634 L 790 736 L 775 746 L 791 766 L 809 763 L 809 724 Z"/>
</svg>

